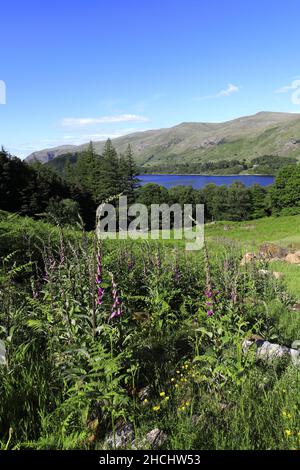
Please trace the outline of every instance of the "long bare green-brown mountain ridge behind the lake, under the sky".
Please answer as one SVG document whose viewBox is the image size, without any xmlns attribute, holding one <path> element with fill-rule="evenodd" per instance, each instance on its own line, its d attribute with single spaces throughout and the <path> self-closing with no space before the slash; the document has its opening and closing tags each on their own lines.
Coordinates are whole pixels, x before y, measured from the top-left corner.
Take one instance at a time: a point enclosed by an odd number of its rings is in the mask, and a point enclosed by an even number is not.
<svg viewBox="0 0 300 470">
<path fill-rule="evenodd" d="M 101 154 L 104 141 L 94 142 Z M 224 123 L 184 122 L 168 129 L 137 132 L 113 139 L 118 152 L 130 144 L 136 162 L 151 167 L 184 162 L 251 160 L 262 155 L 300 159 L 300 114 L 261 112 Z M 87 148 L 64 145 L 40 150 L 26 160 L 49 162 Z"/>
</svg>

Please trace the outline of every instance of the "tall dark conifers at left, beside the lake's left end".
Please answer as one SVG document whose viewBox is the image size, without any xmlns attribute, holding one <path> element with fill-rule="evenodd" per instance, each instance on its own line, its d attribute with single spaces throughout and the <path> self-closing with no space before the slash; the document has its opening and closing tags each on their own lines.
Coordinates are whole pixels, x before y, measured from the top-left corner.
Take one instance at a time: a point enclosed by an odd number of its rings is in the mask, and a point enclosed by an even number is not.
<svg viewBox="0 0 300 470">
<path fill-rule="evenodd" d="M 130 146 L 118 155 L 110 140 L 102 155 L 93 144 L 76 163 L 68 165 L 64 177 L 38 161 L 31 164 L 0 151 L 0 209 L 31 217 L 53 216 L 60 223 L 73 224 L 81 215 L 92 229 L 98 205 L 123 194 L 131 203 L 138 187 L 137 169 Z"/>
</svg>

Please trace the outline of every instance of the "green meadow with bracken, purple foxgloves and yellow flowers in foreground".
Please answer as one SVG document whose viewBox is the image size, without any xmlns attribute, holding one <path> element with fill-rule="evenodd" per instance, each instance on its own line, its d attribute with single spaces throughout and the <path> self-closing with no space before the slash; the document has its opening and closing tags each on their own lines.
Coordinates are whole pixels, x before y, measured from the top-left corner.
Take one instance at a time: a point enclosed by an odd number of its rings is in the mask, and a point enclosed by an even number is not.
<svg viewBox="0 0 300 470">
<path fill-rule="evenodd" d="M 186 252 L 1 213 L 1 449 L 299 448 L 297 364 L 243 344 L 300 337 L 300 267 L 240 265 L 299 228 L 217 222 Z"/>
</svg>

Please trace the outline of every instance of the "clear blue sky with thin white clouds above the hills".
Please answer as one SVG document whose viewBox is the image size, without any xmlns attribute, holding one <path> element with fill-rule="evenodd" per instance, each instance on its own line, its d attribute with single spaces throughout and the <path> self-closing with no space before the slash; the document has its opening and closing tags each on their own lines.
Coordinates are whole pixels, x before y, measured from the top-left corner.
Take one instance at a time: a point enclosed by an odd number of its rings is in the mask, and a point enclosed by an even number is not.
<svg viewBox="0 0 300 470">
<path fill-rule="evenodd" d="M 0 15 L 0 144 L 21 157 L 300 112 L 299 0 L 10 0 Z"/>
</svg>

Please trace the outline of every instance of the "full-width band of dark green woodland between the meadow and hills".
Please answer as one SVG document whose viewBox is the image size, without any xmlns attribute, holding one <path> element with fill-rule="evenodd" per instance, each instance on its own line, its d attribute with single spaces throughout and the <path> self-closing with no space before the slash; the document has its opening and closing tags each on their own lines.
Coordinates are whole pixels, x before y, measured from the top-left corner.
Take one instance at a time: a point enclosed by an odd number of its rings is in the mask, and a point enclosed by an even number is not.
<svg viewBox="0 0 300 470">
<path fill-rule="evenodd" d="M 283 160 L 293 163 L 282 157 L 260 157 L 253 162 L 258 166 L 271 162 L 275 169 L 282 166 Z M 59 162 L 58 159 L 58 165 Z M 203 168 L 212 169 L 221 163 L 203 164 Z M 119 194 L 126 195 L 129 203 L 147 206 L 153 203 L 204 204 L 207 221 L 241 221 L 300 212 L 300 167 L 295 164 L 281 167 L 275 184 L 267 188 L 259 185 L 247 188 L 235 182 L 230 186 L 208 184 L 199 190 L 191 186 L 168 190 L 153 183 L 140 186 L 130 146 L 124 155 L 118 155 L 108 140 L 101 156 L 95 153 L 91 143 L 75 161 L 64 161 L 61 175 L 57 168 L 39 162 L 29 165 L 2 149 L 0 209 L 34 218 L 54 218 L 63 225 L 76 223 L 79 214 L 89 230 L 94 227 L 97 206 Z"/>
</svg>

